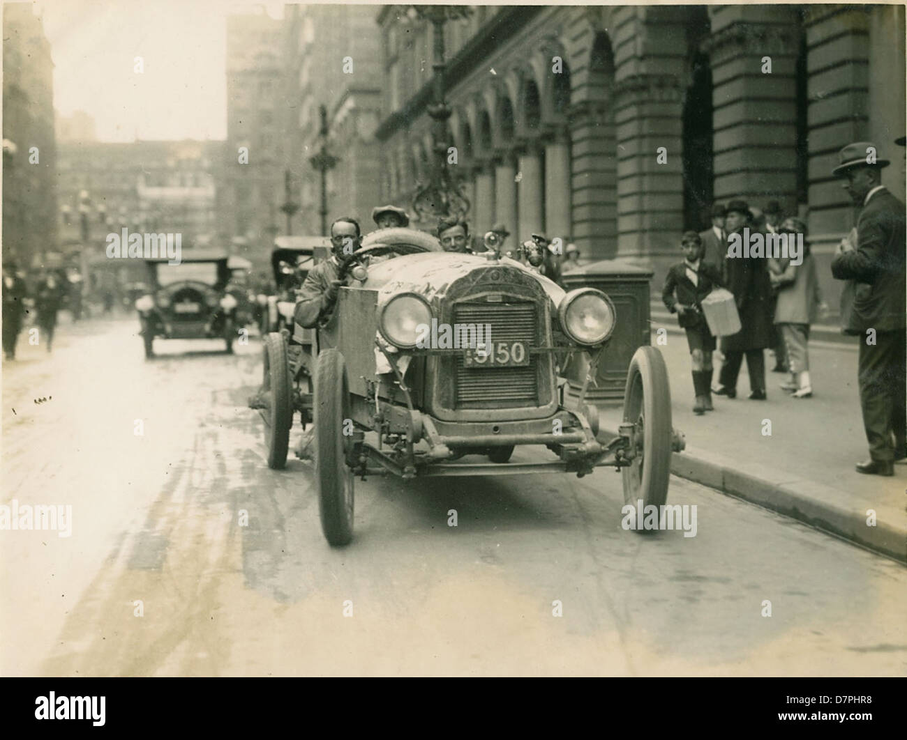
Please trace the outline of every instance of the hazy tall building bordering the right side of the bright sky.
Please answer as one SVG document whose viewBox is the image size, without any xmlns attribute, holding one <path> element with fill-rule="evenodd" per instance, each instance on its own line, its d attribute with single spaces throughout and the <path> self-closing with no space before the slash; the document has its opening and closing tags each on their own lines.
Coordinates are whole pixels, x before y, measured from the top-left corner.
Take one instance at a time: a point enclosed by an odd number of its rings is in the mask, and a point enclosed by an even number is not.
<svg viewBox="0 0 907 740">
<path fill-rule="evenodd" d="M 227 150 L 223 165 L 225 232 L 257 256 L 282 232 L 288 165 L 287 53 L 282 20 L 260 14 L 227 18 Z M 240 159 L 248 157 L 248 164 Z"/>
</svg>

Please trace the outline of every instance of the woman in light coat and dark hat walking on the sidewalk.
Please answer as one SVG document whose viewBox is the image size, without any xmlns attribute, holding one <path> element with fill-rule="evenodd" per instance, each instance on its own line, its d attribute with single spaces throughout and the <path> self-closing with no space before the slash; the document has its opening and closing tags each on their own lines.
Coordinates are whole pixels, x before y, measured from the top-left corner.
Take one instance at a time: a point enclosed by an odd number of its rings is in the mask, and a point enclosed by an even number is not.
<svg viewBox="0 0 907 740">
<path fill-rule="evenodd" d="M 815 322 L 822 304 L 819 278 L 815 274 L 815 262 L 805 244 L 806 225 L 799 218 L 788 218 L 781 226 L 781 233 L 804 235 L 803 262 L 787 262 L 781 274 L 772 274 L 772 284 L 778 288 L 778 303 L 775 307 L 775 324 L 781 331 L 787 351 L 790 380 L 781 384 L 784 390 L 793 390 L 795 399 L 813 395 L 809 380 L 809 325 Z"/>
</svg>

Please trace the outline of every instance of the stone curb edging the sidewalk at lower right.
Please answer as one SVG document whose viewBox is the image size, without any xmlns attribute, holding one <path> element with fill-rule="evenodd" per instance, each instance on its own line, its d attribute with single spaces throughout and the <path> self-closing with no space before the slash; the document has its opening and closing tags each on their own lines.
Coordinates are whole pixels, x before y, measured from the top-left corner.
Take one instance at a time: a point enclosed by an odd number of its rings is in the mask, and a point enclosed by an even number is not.
<svg viewBox="0 0 907 740">
<path fill-rule="evenodd" d="M 602 430 L 617 436 L 616 429 Z M 865 510 L 835 504 L 834 499 L 841 492 L 830 486 L 700 450 L 673 453 L 671 474 L 764 506 L 907 564 L 907 525 L 886 522 L 884 514 L 877 514 L 876 525 L 868 526 Z"/>
</svg>

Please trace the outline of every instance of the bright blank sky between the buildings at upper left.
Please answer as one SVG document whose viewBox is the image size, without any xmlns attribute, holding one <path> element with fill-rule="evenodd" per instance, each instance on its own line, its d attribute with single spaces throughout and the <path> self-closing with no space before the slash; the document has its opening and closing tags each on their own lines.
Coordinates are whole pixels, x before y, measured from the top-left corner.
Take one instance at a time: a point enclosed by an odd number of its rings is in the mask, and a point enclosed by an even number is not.
<svg viewBox="0 0 907 740">
<path fill-rule="evenodd" d="M 102 141 L 226 139 L 226 18 L 283 3 L 41 0 L 54 108 L 93 117 Z M 141 56 L 144 72 L 136 73 Z"/>
</svg>

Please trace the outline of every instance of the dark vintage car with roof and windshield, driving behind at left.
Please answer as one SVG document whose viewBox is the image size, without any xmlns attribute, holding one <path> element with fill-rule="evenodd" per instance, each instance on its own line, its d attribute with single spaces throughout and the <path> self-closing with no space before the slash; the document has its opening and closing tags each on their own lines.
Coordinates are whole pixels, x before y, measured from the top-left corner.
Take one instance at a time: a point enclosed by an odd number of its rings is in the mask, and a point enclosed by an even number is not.
<svg viewBox="0 0 907 740">
<path fill-rule="evenodd" d="M 145 357 L 154 356 L 154 338 L 220 338 L 233 351 L 237 299 L 227 293 L 228 255 L 184 252 L 180 264 L 166 257 L 146 259 L 147 292 L 135 302 Z"/>
</svg>

